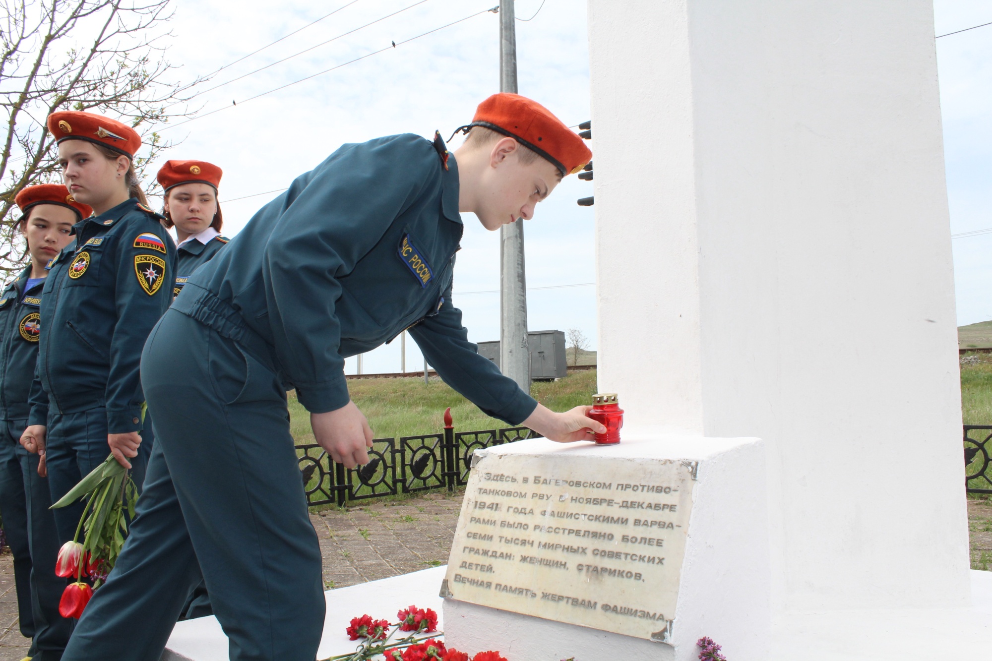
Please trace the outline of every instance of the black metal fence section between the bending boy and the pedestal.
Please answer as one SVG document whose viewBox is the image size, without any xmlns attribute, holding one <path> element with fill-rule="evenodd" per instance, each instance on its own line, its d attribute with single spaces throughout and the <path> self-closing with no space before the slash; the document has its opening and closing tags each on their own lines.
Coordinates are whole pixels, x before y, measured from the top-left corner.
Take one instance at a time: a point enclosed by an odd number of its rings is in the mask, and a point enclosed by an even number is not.
<svg viewBox="0 0 992 661">
<path fill-rule="evenodd" d="M 468 481 L 476 450 L 537 438 L 540 435 L 526 427 L 481 432 L 455 432 L 445 427 L 441 434 L 375 439 L 369 463 L 357 468 L 333 463 L 316 444 L 297 446 L 297 454 L 308 504 L 343 505 L 429 489 L 453 491 Z"/>
</svg>

